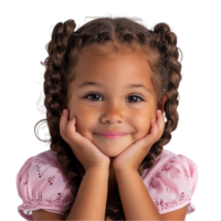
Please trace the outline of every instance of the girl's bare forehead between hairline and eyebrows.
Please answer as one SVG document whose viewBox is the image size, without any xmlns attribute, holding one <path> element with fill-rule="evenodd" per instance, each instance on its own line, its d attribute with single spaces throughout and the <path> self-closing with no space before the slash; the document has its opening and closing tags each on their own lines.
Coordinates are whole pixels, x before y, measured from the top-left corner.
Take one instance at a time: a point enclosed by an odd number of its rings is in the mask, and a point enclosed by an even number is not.
<svg viewBox="0 0 221 221">
<path fill-rule="evenodd" d="M 110 51 L 109 49 L 95 50 L 90 48 L 81 54 L 76 65 L 76 81 L 99 77 L 127 81 L 128 77 L 149 81 L 151 70 L 140 51 Z M 126 78 L 125 78 L 126 77 Z"/>
</svg>

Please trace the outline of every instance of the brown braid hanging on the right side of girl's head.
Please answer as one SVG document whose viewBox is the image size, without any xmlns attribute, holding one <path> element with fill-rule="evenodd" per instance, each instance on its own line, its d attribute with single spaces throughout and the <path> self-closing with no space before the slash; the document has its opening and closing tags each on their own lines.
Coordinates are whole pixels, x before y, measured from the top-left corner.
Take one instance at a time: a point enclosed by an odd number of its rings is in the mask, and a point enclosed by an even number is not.
<svg viewBox="0 0 221 221">
<path fill-rule="evenodd" d="M 152 78 L 154 87 L 157 92 L 158 103 L 161 102 L 162 96 L 167 94 L 168 101 L 165 103 L 166 126 L 164 134 L 157 140 L 149 152 L 143 160 L 139 167 L 139 175 L 141 176 L 144 169 L 151 168 L 156 158 L 161 154 L 162 147 L 166 148 L 168 140 L 171 139 L 171 134 L 179 126 L 180 110 L 179 110 L 179 88 L 181 84 L 181 66 L 183 56 L 175 39 L 171 25 L 166 22 L 156 22 L 150 25 L 149 31 L 152 33 L 150 45 L 157 46 L 160 52 L 160 61 L 156 65 L 156 73 L 160 74 L 160 81 Z M 158 86 L 157 86 L 158 85 Z"/>
</svg>

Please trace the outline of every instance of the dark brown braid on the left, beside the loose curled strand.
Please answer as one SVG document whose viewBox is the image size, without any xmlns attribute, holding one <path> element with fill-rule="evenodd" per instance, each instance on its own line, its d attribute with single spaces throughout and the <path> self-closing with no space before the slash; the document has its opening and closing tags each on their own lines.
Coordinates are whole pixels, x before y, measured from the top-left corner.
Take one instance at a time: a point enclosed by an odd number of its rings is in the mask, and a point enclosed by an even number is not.
<svg viewBox="0 0 221 221">
<path fill-rule="evenodd" d="M 50 40 L 45 45 L 45 62 L 41 66 L 44 70 L 41 73 L 41 76 L 43 74 L 41 77 L 43 78 L 42 93 L 40 93 L 38 103 L 39 113 L 41 114 L 41 110 L 44 109 L 45 117 L 38 120 L 34 127 L 34 135 L 36 135 L 40 134 L 40 126 L 48 126 L 49 131 L 44 133 L 44 137 L 41 138 L 35 136 L 35 138 L 42 140 L 41 149 L 44 146 L 44 148 L 50 148 L 53 151 L 56 151 L 57 162 L 70 181 L 71 192 L 75 193 L 78 191 L 78 187 L 84 176 L 84 169 L 77 158 L 73 155 L 69 145 L 62 139 L 57 123 L 60 122 L 63 97 L 61 94 L 66 94 L 67 88 L 64 57 L 69 48 L 69 38 L 71 33 L 75 31 L 76 27 L 75 22 L 73 23 L 71 20 L 63 19 L 53 27 L 51 35 L 52 40 Z M 44 105 L 46 105 L 46 108 Z M 42 115 L 44 116 L 44 114 Z M 77 173 L 74 171 L 77 171 Z M 66 217 L 70 213 L 72 204 L 73 202 L 67 206 Z"/>
</svg>

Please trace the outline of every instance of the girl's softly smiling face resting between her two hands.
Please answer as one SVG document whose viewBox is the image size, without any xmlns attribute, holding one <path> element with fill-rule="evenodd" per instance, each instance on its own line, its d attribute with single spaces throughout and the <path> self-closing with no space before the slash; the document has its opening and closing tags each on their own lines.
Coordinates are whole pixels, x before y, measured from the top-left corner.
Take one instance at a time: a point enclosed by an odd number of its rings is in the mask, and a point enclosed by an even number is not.
<svg viewBox="0 0 221 221">
<path fill-rule="evenodd" d="M 149 65 L 139 52 L 97 56 L 91 51 L 81 56 L 76 73 L 69 86 L 70 119 L 76 116 L 76 131 L 102 152 L 113 159 L 150 131 L 150 119 L 156 119 L 156 94 Z M 96 84 L 80 87 L 85 82 Z M 129 86 L 133 84 L 143 86 Z M 108 139 L 96 134 L 108 130 L 128 135 Z"/>
</svg>

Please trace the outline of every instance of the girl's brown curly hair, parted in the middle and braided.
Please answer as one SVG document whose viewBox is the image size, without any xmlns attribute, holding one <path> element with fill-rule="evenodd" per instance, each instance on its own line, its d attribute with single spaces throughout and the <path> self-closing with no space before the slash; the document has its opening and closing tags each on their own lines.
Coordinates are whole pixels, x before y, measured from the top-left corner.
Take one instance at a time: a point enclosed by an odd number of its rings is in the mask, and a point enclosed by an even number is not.
<svg viewBox="0 0 221 221">
<path fill-rule="evenodd" d="M 50 148 L 56 152 L 57 162 L 63 175 L 69 178 L 71 192 L 75 199 L 85 171 L 69 144 L 61 137 L 59 128 L 60 113 L 64 108 L 64 101 L 67 101 L 69 84 L 75 77 L 70 72 L 76 66 L 78 55 L 85 45 L 110 43 L 115 50 L 124 46 L 139 49 L 152 71 L 151 82 L 158 104 L 162 104 L 164 95 L 168 97 L 164 106 L 164 134 L 140 164 L 138 172 L 141 176 L 145 169 L 154 166 L 156 158 L 171 139 L 171 134 L 179 126 L 178 95 L 183 56 L 181 48 L 177 45 L 173 28 L 167 22 L 147 24 L 143 18 L 107 11 L 104 15 L 85 17 L 84 21 L 62 18 L 48 31 L 51 39 L 44 46 L 46 57 L 40 64 L 42 90 L 36 101 L 38 114 L 42 117 L 35 122 L 33 129 L 36 145 L 41 149 Z M 72 206 L 73 202 L 66 208 L 65 219 Z M 115 186 L 112 198 L 107 198 L 105 220 L 125 220 L 118 186 Z"/>
</svg>

